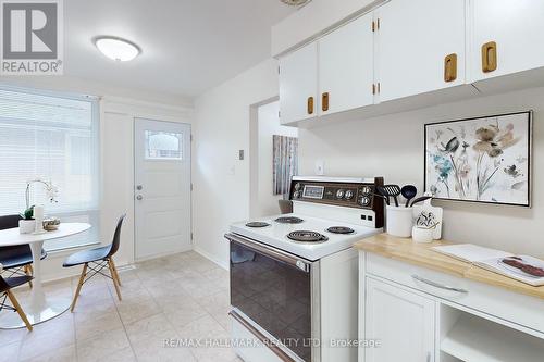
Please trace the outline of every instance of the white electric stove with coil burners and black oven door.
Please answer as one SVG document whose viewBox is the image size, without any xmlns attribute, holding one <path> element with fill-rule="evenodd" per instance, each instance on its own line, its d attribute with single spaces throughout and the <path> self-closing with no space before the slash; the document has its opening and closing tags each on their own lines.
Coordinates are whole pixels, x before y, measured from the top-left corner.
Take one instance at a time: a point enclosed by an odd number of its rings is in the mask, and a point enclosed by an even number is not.
<svg viewBox="0 0 544 362">
<path fill-rule="evenodd" d="M 246 362 L 357 361 L 357 252 L 380 233 L 383 178 L 294 177 L 293 213 L 231 225 L 231 317 Z M 257 347 L 256 347 L 257 346 Z"/>
</svg>

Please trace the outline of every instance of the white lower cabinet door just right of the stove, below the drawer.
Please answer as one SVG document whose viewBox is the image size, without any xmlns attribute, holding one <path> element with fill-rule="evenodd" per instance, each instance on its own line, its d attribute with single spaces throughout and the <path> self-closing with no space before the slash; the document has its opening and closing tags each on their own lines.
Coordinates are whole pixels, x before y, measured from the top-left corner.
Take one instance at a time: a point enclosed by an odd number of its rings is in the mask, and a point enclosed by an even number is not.
<svg viewBox="0 0 544 362">
<path fill-rule="evenodd" d="M 366 362 L 434 361 L 434 301 L 367 278 Z"/>
</svg>

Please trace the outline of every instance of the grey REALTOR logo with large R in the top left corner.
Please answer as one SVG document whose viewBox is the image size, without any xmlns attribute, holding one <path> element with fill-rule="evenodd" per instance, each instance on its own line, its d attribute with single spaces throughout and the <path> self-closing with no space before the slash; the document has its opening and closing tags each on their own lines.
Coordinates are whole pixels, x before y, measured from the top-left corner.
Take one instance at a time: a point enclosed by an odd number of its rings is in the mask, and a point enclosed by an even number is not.
<svg viewBox="0 0 544 362">
<path fill-rule="evenodd" d="M 62 74 L 62 0 L 0 0 L 1 74 Z"/>
</svg>

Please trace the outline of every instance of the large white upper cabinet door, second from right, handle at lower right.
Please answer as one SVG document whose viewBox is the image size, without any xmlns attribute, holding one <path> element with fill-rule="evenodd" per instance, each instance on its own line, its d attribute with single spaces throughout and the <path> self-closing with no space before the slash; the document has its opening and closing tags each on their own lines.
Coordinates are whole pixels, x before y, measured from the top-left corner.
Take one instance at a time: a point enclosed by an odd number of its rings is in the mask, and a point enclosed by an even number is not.
<svg viewBox="0 0 544 362">
<path fill-rule="evenodd" d="M 465 84 L 465 0 L 395 0 L 376 10 L 380 101 Z"/>
</svg>

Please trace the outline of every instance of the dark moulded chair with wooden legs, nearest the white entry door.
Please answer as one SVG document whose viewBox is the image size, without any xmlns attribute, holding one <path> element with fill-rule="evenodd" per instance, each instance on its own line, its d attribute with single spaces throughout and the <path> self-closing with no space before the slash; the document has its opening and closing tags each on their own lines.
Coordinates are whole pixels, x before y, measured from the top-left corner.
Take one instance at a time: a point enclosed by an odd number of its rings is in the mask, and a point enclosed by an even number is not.
<svg viewBox="0 0 544 362">
<path fill-rule="evenodd" d="M 62 266 L 71 267 L 83 264 L 82 275 L 79 276 L 79 283 L 77 284 L 77 289 L 75 290 L 74 300 L 72 301 L 72 307 L 70 310 L 73 312 L 77 298 L 79 297 L 79 291 L 82 286 L 97 274 L 103 275 L 113 280 L 115 286 L 115 291 L 118 294 L 119 300 L 121 300 L 121 291 L 119 287 L 121 286 L 121 280 L 119 278 L 118 270 L 113 263 L 113 255 L 119 250 L 119 242 L 121 240 L 121 226 L 123 225 L 123 220 L 126 214 L 121 216 L 118 221 L 118 226 L 115 227 L 115 234 L 113 235 L 112 244 L 90 250 L 83 250 L 70 255 Z M 89 265 L 90 264 L 90 265 Z M 108 267 L 110 270 L 110 275 L 102 273 L 102 270 Z M 87 276 L 87 270 L 91 270 L 92 273 Z"/>
</svg>

